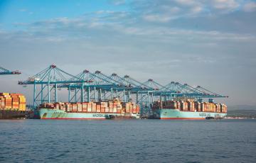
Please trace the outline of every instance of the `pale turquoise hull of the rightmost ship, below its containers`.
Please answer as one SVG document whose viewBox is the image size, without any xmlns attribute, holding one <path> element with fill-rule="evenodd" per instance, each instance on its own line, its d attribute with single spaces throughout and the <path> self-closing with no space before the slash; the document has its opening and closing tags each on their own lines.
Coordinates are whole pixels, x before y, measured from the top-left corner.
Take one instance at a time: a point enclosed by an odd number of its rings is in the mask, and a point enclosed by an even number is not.
<svg viewBox="0 0 256 163">
<path fill-rule="evenodd" d="M 157 119 L 173 119 L 173 120 L 204 120 L 206 117 L 224 118 L 227 113 L 214 112 L 197 112 L 197 111 L 180 111 L 178 109 L 155 109 L 154 118 Z"/>
</svg>

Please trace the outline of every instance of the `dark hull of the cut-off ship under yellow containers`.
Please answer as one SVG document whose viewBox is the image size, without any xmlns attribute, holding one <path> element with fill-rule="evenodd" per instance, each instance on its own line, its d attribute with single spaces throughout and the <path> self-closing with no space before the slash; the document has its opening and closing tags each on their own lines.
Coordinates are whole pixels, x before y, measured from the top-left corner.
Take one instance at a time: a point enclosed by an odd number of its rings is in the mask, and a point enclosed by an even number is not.
<svg viewBox="0 0 256 163">
<path fill-rule="evenodd" d="M 24 119 L 28 118 L 28 111 L 0 110 L 0 119 Z"/>
</svg>

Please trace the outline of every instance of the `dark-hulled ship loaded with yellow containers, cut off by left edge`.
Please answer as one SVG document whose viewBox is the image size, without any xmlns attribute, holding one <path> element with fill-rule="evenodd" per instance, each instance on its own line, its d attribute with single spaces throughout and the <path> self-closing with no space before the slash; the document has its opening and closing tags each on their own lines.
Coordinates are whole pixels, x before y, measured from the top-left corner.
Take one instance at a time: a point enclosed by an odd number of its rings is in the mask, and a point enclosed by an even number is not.
<svg viewBox="0 0 256 163">
<path fill-rule="evenodd" d="M 0 93 L 0 119 L 23 119 L 28 113 L 23 94 Z"/>
</svg>

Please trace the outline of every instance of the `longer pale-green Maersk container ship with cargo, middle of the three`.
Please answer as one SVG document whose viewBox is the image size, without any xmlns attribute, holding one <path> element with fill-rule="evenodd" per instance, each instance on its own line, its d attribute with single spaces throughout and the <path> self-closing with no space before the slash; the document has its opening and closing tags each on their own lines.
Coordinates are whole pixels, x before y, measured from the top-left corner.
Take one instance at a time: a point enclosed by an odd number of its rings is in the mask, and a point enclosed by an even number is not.
<svg viewBox="0 0 256 163">
<path fill-rule="evenodd" d="M 82 103 L 43 103 L 38 107 L 41 119 L 139 118 L 139 106 L 119 100 Z"/>
</svg>

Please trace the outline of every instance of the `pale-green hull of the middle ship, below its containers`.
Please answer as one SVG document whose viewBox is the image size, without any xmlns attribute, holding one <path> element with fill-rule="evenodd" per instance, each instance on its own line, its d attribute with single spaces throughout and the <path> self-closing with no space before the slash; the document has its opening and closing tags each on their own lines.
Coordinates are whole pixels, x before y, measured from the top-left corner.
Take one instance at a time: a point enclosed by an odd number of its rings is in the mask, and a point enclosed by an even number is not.
<svg viewBox="0 0 256 163">
<path fill-rule="evenodd" d="M 38 111 L 38 116 L 41 119 L 66 119 L 66 120 L 105 120 L 110 116 L 124 116 L 122 113 L 73 113 L 65 112 L 59 109 L 41 108 Z M 137 114 L 132 114 L 132 117 L 137 117 Z"/>
</svg>

